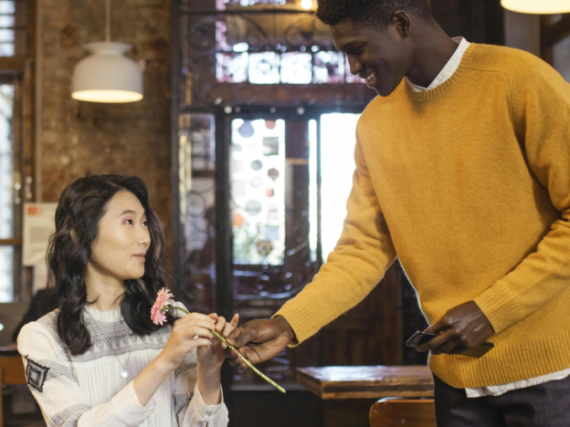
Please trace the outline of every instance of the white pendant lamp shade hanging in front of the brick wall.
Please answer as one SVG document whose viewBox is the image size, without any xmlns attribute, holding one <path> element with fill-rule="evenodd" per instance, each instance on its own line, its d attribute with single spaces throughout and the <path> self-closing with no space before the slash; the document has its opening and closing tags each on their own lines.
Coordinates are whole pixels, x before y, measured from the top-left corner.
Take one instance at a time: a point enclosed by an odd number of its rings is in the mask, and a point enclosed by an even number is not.
<svg viewBox="0 0 570 427">
<path fill-rule="evenodd" d="M 124 43 L 90 43 L 92 53 L 79 61 L 71 78 L 71 97 L 90 102 L 134 102 L 142 99 L 142 69 L 123 57 Z"/>
</svg>

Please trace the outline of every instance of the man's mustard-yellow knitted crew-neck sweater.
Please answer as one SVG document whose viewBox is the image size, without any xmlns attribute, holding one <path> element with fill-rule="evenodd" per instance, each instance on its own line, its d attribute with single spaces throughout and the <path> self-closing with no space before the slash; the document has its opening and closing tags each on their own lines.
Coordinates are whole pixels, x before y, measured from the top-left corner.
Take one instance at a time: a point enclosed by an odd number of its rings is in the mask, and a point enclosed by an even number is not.
<svg viewBox="0 0 570 427">
<path fill-rule="evenodd" d="M 495 330 L 481 359 L 432 355 L 441 380 L 473 388 L 570 368 L 569 111 L 570 85 L 541 59 L 476 44 L 438 88 L 403 81 L 372 101 L 343 234 L 278 313 L 299 342 L 397 255 L 430 324 L 474 300 Z"/>
</svg>

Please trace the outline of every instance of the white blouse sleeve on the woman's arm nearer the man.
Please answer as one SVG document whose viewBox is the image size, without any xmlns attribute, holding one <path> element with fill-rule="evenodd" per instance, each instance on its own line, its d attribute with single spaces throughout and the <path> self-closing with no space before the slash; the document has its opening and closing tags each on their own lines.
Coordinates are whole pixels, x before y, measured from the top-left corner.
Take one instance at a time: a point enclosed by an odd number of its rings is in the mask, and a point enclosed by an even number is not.
<svg viewBox="0 0 570 427">
<path fill-rule="evenodd" d="M 222 401 L 206 405 L 198 389 L 195 349 L 188 353 L 184 362 L 174 371 L 174 412 L 180 427 L 226 427 L 227 407 Z"/>
</svg>

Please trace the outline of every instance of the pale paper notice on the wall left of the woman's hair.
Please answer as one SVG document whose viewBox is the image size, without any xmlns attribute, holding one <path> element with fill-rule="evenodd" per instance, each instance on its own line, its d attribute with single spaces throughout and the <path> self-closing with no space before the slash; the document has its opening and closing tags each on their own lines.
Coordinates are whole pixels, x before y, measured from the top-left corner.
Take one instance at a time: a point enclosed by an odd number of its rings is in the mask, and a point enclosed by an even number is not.
<svg viewBox="0 0 570 427">
<path fill-rule="evenodd" d="M 58 203 L 26 203 L 24 205 L 24 239 L 22 264 L 36 266 L 46 262 L 49 236 L 56 231 Z"/>
</svg>

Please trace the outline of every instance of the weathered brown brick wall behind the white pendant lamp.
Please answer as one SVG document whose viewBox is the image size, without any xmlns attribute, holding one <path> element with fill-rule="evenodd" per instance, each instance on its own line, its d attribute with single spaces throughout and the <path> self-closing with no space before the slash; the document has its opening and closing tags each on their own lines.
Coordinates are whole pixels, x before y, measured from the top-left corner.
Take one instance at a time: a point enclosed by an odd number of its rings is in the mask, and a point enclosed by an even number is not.
<svg viewBox="0 0 570 427">
<path fill-rule="evenodd" d="M 144 99 L 96 104 L 71 99 L 83 45 L 105 36 L 104 0 L 41 0 L 37 188 L 44 202 L 86 174 L 141 176 L 170 230 L 170 0 L 111 2 L 111 41 L 146 63 Z M 168 240 L 170 236 L 168 235 Z"/>
</svg>

